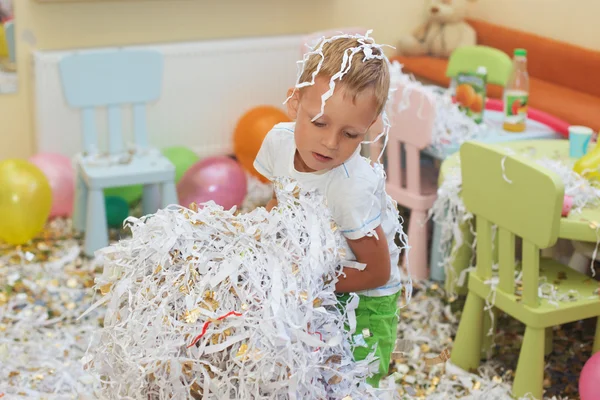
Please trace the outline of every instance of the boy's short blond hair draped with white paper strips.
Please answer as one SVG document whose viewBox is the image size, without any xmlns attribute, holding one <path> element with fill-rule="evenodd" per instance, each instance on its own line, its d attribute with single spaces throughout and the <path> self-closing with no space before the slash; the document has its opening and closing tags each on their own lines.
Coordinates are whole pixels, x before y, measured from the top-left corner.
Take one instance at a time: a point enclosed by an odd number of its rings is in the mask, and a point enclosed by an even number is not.
<svg viewBox="0 0 600 400">
<path fill-rule="evenodd" d="M 370 38 L 369 38 L 370 39 Z M 327 40 L 327 39 L 323 39 Z M 363 41 L 364 42 L 364 41 Z M 321 48 L 321 41 L 315 49 Z M 368 42 L 367 42 L 368 43 Z M 320 53 L 310 54 L 305 59 L 304 69 L 298 81 L 299 84 L 312 82 L 313 74 L 318 69 L 318 76 L 331 79 L 342 69 L 344 54 L 350 56 L 351 50 L 361 47 L 362 43 L 356 37 L 341 37 L 322 44 Z M 339 83 L 353 97 L 359 93 L 373 88 L 377 103 L 377 115 L 381 114 L 388 99 L 390 89 L 390 71 L 388 60 L 385 58 L 381 48 L 372 47 L 375 58 L 366 58 L 365 53 L 358 51 L 348 61 L 351 62 L 350 69 L 339 78 Z M 321 55 L 322 54 L 322 55 Z M 321 67 L 319 63 L 322 60 Z M 347 64 L 346 64 L 347 65 Z"/>
</svg>

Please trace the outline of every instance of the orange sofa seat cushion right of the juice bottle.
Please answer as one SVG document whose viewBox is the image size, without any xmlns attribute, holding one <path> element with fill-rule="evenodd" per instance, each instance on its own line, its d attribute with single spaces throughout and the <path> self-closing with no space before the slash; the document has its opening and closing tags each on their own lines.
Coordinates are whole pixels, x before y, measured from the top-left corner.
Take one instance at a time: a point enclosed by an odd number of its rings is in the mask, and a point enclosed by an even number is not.
<svg viewBox="0 0 600 400">
<path fill-rule="evenodd" d="M 529 105 L 573 125 L 600 130 L 600 97 L 530 78 Z"/>
</svg>

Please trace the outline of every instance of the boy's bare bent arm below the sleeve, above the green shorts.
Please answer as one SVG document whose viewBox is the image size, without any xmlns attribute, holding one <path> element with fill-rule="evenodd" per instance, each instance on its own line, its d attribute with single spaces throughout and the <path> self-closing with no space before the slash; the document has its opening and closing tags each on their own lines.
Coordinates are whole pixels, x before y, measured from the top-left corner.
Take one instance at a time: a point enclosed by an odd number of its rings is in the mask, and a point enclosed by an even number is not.
<svg viewBox="0 0 600 400">
<path fill-rule="evenodd" d="M 390 250 L 381 225 L 375 228 L 378 238 L 365 236 L 349 240 L 348 245 L 360 263 L 367 264 L 362 271 L 356 268 L 344 268 L 346 276 L 341 275 L 335 286 L 339 293 L 358 292 L 375 289 L 390 279 Z"/>
</svg>

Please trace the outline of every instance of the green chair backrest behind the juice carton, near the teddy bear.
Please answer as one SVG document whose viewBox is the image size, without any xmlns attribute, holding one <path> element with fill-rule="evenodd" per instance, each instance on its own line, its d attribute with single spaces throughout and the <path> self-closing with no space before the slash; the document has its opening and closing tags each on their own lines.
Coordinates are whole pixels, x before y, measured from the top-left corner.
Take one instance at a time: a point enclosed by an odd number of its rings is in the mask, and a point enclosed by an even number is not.
<svg viewBox="0 0 600 400">
<path fill-rule="evenodd" d="M 512 71 L 512 60 L 502 50 L 488 46 L 464 46 L 452 52 L 446 76 L 455 78 L 459 72 L 475 72 L 479 66 L 487 69 L 487 81 L 506 86 Z"/>
</svg>

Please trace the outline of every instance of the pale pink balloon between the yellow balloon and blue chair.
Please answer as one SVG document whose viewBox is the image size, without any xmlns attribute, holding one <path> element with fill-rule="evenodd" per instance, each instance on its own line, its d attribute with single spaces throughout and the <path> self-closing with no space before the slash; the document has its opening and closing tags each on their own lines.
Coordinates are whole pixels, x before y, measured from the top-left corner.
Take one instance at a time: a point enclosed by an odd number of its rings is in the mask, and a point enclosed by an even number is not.
<svg viewBox="0 0 600 400">
<path fill-rule="evenodd" d="M 75 198 L 75 172 L 71 159 L 55 153 L 38 153 L 29 161 L 42 170 L 52 189 L 52 217 L 70 217 Z"/>
</svg>

